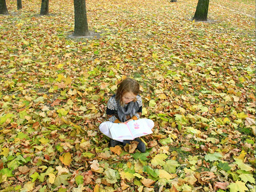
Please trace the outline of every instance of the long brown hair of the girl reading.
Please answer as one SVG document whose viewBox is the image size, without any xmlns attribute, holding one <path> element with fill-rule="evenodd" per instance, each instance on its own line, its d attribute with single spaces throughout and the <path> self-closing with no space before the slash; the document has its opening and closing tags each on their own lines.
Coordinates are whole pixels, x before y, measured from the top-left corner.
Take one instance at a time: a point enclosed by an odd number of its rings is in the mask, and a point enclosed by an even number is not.
<svg viewBox="0 0 256 192">
<path fill-rule="evenodd" d="M 122 96 L 127 92 L 132 92 L 134 95 L 138 95 L 140 92 L 140 84 L 134 79 L 127 78 L 117 85 L 116 100 L 120 102 L 121 106 L 124 106 Z M 135 101 L 136 98 L 133 102 Z"/>
</svg>

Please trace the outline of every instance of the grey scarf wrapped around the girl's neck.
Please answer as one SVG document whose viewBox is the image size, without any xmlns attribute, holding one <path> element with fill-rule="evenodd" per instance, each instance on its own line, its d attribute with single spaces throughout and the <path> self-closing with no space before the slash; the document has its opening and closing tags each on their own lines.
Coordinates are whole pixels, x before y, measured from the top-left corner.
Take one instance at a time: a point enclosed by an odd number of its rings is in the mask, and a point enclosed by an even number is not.
<svg viewBox="0 0 256 192">
<path fill-rule="evenodd" d="M 124 107 L 122 107 L 120 103 L 117 102 L 117 115 L 121 120 L 121 122 L 126 122 L 127 121 L 126 116 L 130 115 L 132 118 L 132 116 L 136 114 L 139 108 L 140 106 L 137 101 L 136 102 L 131 101 L 129 102 L 129 104 L 125 105 Z"/>
</svg>

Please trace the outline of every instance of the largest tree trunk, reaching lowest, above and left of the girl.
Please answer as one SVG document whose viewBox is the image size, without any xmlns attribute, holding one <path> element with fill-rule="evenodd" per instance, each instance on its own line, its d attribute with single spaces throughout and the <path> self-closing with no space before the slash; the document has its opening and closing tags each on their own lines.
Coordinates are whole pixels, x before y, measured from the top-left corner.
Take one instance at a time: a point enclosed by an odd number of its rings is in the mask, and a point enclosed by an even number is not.
<svg viewBox="0 0 256 192">
<path fill-rule="evenodd" d="M 85 0 L 74 0 L 75 29 L 74 36 L 90 35 L 86 16 Z"/>
</svg>

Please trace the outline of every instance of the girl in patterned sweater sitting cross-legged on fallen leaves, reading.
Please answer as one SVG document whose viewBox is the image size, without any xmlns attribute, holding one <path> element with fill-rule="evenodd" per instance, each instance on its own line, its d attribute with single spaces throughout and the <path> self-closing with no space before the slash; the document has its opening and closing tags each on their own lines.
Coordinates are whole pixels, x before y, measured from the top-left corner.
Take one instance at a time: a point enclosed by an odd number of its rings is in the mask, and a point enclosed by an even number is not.
<svg viewBox="0 0 256 192">
<path fill-rule="evenodd" d="M 127 78 L 118 84 L 116 94 L 108 100 L 106 113 L 109 122 L 120 124 L 131 120 L 138 120 L 142 112 L 142 100 L 140 95 L 138 95 L 139 92 L 140 84 L 134 79 Z M 151 129 L 154 127 L 154 122 L 152 120 L 147 120 L 147 124 Z M 125 146 L 127 143 L 131 142 L 131 140 L 113 140 L 108 126 L 100 126 L 100 131 L 111 138 L 111 147 L 120 144 Z M 143 143 L 140 138 L 136 138 L 135 141 L 138 141 L 138 150 L 145 152 L 145 143 Z"/>
</svg>

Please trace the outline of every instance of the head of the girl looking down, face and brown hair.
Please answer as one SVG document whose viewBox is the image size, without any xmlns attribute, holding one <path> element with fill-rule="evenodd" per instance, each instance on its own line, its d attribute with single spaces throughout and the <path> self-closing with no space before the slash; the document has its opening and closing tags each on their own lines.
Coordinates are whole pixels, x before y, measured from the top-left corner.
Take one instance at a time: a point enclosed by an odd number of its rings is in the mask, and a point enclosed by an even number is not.
<svg viewBox="0 0 256 192">
<path fill-rule="evenodd" d="M 136 101 L 136 96 L 140 92 L 140 84 L 134 79 L 127 78 L 117 85 L 116 100 L 118 100 L 121 106 L 128 104 L 129 102 Z"/>
</svg>

